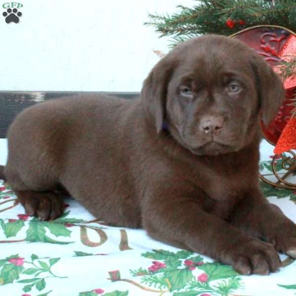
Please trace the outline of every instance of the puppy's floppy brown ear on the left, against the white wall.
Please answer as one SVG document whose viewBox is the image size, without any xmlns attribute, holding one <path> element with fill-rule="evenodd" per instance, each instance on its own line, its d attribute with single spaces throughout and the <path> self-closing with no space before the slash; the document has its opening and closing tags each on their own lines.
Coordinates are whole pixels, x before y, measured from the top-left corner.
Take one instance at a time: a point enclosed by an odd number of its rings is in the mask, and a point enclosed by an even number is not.
<svg viewBox="0 0 296 296">
<path fill-rule="evenodd" d="M 150 71 L 142 87 L 142 104 L 157 133 L 162 130 L 168 83 L 175 66 L 176 62 L 169 55 L 163 57 Z"/>
</svg>

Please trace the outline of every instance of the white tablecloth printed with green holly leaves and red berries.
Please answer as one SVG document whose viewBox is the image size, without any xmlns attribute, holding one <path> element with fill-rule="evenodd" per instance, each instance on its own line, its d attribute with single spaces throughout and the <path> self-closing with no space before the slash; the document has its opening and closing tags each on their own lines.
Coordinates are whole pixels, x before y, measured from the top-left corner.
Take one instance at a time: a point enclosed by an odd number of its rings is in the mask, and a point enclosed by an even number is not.
<svg viewBox="0 0 296 296">
<path fill-rule="evenodd" d="M 260 169 L 268 173 L 270 163 Z M 296 192 L 265 183 L 261 189 L 296 222 Z M 277 273 L 241 276 L 208 257 L 152 240 L 142 229 L 100 222 L 73 199 L 65 203 L 61 218 L 39 221 L 0 181 L 1 296 L 296 295 L 296 262 L 284 255 Z"/>
</svg>

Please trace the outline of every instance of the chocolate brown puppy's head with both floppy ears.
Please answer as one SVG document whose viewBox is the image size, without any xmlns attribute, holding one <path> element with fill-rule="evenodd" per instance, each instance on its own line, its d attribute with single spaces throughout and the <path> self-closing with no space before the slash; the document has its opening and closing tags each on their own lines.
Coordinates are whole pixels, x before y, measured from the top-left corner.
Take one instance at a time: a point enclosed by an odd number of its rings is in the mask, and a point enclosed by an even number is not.
<svg viewBox="0 0 296 296">
<path fill-rule="evenodd" d="M 144 81 L 142 101 L 156 131 L 196 155 L 238 151 L 284 100 L 271 67 L 243 42 L 207 35 L 179 44 Z"/>
</svg>

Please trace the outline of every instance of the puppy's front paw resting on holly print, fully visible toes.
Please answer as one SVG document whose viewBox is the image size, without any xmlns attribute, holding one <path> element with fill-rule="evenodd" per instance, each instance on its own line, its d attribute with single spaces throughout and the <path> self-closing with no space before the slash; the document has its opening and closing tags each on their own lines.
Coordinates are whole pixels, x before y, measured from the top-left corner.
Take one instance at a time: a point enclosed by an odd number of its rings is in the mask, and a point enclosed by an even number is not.
<svg viewBox="0 0 296 296">
<path fill-rule="evenodd" d="M 244 275 L 267 275 L 275 272 L 281 265 L 279 255 L 272 244 L 257 239 L 235 243 L 221 252 L 222 263 L 230 264 Z"/>
</svg>

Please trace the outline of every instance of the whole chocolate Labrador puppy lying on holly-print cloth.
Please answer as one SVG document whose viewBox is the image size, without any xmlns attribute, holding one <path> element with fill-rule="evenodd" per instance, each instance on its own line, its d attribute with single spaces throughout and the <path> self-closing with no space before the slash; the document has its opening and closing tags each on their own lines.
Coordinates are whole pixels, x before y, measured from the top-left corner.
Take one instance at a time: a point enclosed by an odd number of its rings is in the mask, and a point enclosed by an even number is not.
<svg viewBox="0 0 296 296">
<path fill-rule="evenodd" d="M 253 49 L 193 38 L 156 64 L 141 99 L 84 95 L 23 111 L 5 177 L 41 220 L 62 214 L 65 189 L 106 222 L 268 274 L 277 251 L 296 258 L 296 224 L 259 190 L 259 116 L 267 125 L 283 98 Z"/>
</svg>

